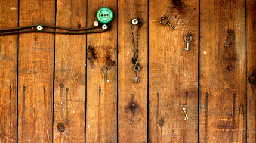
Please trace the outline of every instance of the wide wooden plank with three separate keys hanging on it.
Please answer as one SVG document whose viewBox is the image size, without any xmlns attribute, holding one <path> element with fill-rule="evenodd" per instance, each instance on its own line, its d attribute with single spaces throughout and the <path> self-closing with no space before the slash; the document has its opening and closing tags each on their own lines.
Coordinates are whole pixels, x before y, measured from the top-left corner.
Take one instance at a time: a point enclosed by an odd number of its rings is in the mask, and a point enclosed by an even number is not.
<svg viewBox="0 0 256 143">
<path fill-rule="evenodd" d="M 198 13 L 198 1 L 149 1 L 149 142 L 198 141 Z"/>
</svg>

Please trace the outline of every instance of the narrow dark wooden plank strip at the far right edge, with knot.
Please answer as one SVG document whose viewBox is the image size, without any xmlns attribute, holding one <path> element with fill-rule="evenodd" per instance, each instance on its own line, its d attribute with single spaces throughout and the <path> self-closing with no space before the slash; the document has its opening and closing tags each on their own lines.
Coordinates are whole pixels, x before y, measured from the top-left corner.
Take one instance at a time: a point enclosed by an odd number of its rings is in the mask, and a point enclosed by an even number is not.
<svg viewBox="0 0 256 143">
<path fill-rule="evenodd" d="M 246 1 L 247 142 L 256 142 L 256 1 Z"/>
</svg>

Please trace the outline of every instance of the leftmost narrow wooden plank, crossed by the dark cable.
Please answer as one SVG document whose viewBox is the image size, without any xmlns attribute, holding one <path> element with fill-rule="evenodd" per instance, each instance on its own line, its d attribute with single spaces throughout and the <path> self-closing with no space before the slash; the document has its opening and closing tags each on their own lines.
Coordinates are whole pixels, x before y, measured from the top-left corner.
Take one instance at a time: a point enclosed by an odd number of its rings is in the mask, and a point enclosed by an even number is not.
<svg viewBox="0 0 256 143">
<path fill-rule="evenodd" d="M 18 1 L 0 1 L 0 29 L 18 26 Z M 0 142 L 17 141 L 17 35 L 0 36 Z"/>
</svg>

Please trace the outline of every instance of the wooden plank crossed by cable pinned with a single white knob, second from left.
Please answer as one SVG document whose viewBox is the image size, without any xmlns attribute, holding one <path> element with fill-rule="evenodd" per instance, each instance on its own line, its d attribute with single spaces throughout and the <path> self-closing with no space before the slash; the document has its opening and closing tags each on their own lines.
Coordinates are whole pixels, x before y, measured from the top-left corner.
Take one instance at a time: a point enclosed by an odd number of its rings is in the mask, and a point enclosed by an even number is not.
<svg viewBox="0 0 256 143">
<path fill-rule="evenodd" d="M 55 23 L 55 1 L 20 0 L 20 26 Z M 19 37 L 18 142 L 51 142 L 54 34 Z"/>
</svg>

